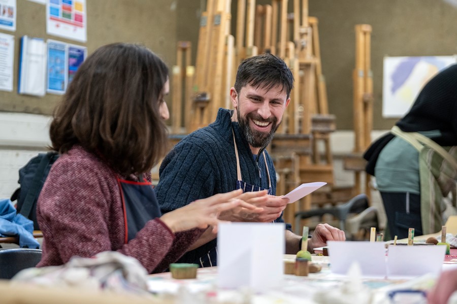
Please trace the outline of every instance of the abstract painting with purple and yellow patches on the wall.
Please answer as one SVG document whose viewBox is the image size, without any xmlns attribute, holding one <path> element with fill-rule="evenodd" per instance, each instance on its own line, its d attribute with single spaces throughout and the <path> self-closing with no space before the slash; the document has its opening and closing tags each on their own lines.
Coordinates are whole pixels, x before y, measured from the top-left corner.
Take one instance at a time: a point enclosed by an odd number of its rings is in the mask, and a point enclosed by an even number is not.
<svg viewBox="0 0 457 304">
<path fill-rule="evenodd" d="M 455 62 L 455 56 L 384 57 L 382 117 L 403 117 L 422 87 Z"/>
</svg>

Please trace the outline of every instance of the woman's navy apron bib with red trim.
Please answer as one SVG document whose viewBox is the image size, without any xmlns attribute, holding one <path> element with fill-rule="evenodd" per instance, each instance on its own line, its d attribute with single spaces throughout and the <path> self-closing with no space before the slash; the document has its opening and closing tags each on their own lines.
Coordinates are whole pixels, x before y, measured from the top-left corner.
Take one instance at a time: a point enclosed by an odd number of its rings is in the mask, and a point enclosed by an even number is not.
<svg viewBox="0 0 457 304">
<path fill-rule="evenodd" d="M 144 182 L 142 175 L 139 179 L 139 182 L 117 179 L 124 213 L 125 244 L 134 239 L 148 221 L 161 216 L 152 184 Z"/>
</svg>

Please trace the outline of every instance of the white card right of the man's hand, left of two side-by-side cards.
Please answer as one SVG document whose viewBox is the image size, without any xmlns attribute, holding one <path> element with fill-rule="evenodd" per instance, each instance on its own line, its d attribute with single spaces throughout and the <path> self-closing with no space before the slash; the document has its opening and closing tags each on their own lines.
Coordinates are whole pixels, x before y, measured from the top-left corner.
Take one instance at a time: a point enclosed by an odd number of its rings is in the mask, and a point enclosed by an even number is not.
<svg viewBox="0 0 457 304">
<path fill-rule="evenodd" d="M 385 277 L 385 248 L 383 242 L 327 242 L 333 273 L 346 275 L 357 262 L 365 277 Z"/>
</svg>

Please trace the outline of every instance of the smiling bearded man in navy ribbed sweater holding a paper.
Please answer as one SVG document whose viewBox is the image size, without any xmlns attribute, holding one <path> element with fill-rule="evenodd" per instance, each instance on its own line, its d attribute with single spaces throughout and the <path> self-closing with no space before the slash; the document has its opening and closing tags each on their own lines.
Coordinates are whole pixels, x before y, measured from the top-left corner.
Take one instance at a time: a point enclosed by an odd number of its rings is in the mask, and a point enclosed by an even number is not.
<svg viewBox="0 0 457 304">
<path fill-rule="evenodd" d="M 160 166 L 156 194 L 162 213 L 190 202 L 235 189 L 268 191 L 268 200 L 249 201 L 257 210 L 240 208 L 220 214 L 228 221 L 283 223 L 287 199 L 276 195 L 276 172 L 265 148 L 272 141 L 282 115 L 290 103 L 293 76 L 285 62 L 262 54 L 244 60 L 230 89 L 234 110 L 219 109 L 216 121 L 190 133 L 165 157 Z M 285 194 L 285 193 L 280 193 Z M 241 237 L 241 236 L 240 236 Z M 208 229 L 180 262 L 215 266 L 216 235 Z M 285 231 L 286 253 L 300 250 L 301 236 Z M 344 240 L 344 232 L 319 224 L 308 248 L 328 240 Z M 311 250 L 310 250 L 311 251 Z"/>
</svg>

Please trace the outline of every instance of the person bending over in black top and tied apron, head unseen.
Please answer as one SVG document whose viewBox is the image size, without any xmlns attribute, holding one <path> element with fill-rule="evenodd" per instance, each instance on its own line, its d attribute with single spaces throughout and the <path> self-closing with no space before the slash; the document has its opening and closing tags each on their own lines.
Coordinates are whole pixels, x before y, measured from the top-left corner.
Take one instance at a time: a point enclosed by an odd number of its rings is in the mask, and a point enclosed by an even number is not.
<svg viewBox="0 0 457 304">
<path fill-rule="evenodd" d="M 391 237 L 407 238 L 408 228 L 414 228 L 414 235 L 441 230 L 443 198 L 455 193 L 457 180 L 456 118 L 454 64 L 432 78 L 391 132 L 365 152 Z"/>
</svg>

